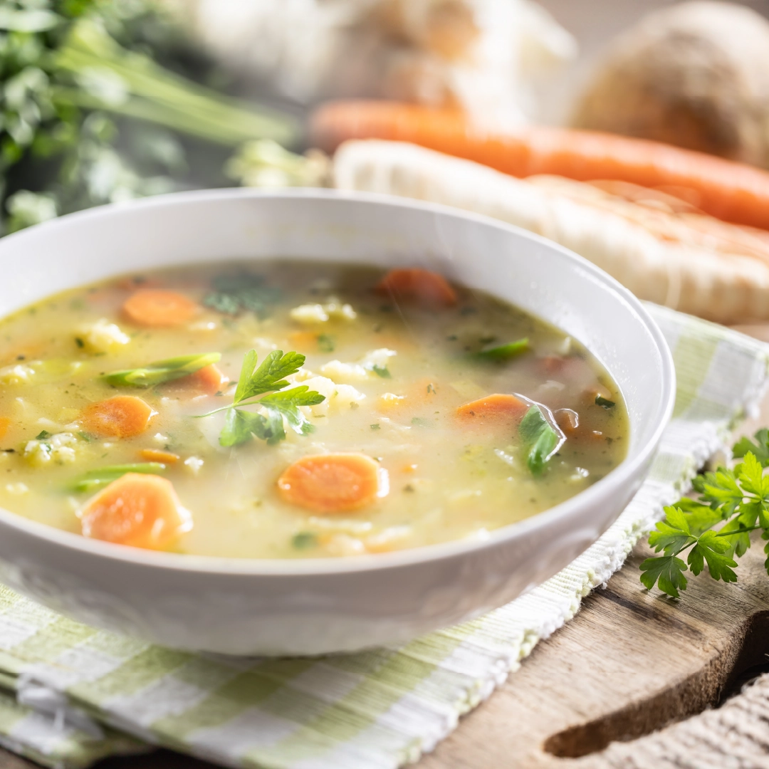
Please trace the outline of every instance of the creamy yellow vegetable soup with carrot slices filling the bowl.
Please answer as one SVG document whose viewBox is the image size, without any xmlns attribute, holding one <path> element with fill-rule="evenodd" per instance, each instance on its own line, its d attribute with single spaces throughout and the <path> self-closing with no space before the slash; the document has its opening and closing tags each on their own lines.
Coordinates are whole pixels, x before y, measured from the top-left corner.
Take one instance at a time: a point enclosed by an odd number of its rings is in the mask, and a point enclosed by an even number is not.
<svg viewBox="0 0 769 769">
<path fill-rule="evenodd" d="M 0 323 L 0 505 L 231 558 L 485 538 L 595 483 L 628 416 L 578 341 L 421 269 L 191 266 Z"/>
</svg>

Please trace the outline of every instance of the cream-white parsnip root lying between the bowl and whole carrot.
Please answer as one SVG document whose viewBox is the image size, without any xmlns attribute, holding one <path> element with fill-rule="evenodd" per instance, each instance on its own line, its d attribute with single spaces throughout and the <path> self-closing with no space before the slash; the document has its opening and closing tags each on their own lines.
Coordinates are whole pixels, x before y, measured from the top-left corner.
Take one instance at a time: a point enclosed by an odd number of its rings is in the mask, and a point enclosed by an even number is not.
<svg viewBox="0 0 769 769">
<path fill-rule="evenodd" d="M 560 178 L 517 179 L 394 141 L 348 141 L 335 186 L 476 211 L 551 238 L 638 297 L 721 323 L 769 318 L 769 234 Z"/>
</svg>

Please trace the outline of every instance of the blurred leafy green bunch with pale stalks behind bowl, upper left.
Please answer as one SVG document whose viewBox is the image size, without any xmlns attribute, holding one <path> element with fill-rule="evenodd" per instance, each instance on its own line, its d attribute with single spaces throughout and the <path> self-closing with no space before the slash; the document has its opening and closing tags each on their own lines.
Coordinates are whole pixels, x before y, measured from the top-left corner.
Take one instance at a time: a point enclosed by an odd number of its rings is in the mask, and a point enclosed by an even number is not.
<svg viewBox="0 0 769 769">
<path fill-rule="evenodd" d="M 216 74 L 149 0 L 0 0 L 3 231 L 196 177 L 221 184 L 242 141 L 297 140 L 291 115 L 174 68 Z M 222 149 L 188 152 L 201 145 Z"/>
</svg>

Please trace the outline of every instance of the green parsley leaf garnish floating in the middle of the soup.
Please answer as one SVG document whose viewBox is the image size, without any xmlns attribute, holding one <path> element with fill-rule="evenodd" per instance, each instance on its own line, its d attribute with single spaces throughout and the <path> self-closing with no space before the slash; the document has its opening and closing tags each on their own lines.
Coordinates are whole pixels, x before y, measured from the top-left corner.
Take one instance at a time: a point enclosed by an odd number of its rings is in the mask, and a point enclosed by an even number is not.
<svg viewBox="0 0 769 769">
<path fill-rule="evenodd" d="M 258 355 L 249 350 L 243 358 L 238 387 L 231 404 L 209 411 L 208 417 L 218 411 L 227 411 L 225 427 L 219 435 L 222 446 L 239 446 L 254 436 L 275 444 L 285 437 L 283 418 L 288 426 L 300 435 L 313 431 L 314 426 L 302 413 L 300 406 L 315 406 L 325 401 L 325 396 L 308 388 L 306 384 L 285 390 L 286 377 L 296 374 L 304 365 L 305 356 L 298 352 L 272 351 L 257 368 Z M 267 393 L 267 394 L 265 394 Z M 244 406 L 258 405 L 264 414 L 245 411 Z"/>
</svg>

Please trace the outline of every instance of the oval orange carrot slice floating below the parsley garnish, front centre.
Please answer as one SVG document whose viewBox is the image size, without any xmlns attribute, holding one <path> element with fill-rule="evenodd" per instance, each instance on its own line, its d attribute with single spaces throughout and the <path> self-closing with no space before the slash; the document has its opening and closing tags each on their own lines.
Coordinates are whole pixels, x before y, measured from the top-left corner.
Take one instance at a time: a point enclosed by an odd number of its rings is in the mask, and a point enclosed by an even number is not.
<svg viewBox="0 0 769 769">
<path fill-rule="evenodd" d="M 289 465 L 278 489 L 290 504 L 342 513 L 384 497 L 389 482 L 387 471 L 365 454 L 317 454 Z"/>
</svg>

